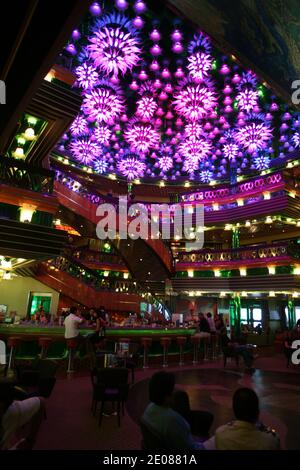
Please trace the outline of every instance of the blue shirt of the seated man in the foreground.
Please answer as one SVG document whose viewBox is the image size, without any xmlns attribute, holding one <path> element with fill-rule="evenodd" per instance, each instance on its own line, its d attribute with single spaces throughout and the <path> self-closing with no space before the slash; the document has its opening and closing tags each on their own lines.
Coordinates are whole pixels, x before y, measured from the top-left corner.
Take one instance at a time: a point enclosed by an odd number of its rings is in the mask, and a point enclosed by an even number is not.
<svg viewBox="0 0 300 470">
<path fill-rule="evenodd" d="M 149 403 L 143 421 L 162 437 L 168 449 L 200 450 L 203 445 L 196 442 L 188 422 L 172 408 Z"/>
</svg>

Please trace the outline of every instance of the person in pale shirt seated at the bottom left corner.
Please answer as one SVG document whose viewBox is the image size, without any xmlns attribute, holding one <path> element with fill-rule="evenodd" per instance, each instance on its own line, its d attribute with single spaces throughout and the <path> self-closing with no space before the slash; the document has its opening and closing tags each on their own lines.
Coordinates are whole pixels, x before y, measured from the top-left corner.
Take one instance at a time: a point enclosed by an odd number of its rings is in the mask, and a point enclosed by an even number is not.
<svg viewBox="0 0 300 470">
<path fill-rule="evenodd" d="M 45 401 L 43 398 L 34 397 L 16 401 L 13 399 L 12 386 L 1 384 L 0 450 L 12 448 L 21 436 L 23 439 L 19 441 L 17 448 L 32 449 L 44 417 Z"/>
</svg>

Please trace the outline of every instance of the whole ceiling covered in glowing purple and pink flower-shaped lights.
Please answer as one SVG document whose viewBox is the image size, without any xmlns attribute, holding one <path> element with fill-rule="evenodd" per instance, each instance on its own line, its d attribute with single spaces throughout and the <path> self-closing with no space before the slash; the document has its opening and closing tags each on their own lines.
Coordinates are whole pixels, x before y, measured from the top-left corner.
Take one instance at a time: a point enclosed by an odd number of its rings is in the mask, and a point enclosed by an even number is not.
<svg viewBox="0 0 300 470">
<path fill-rule="evenodd" d="M 282 166 L 299 113 L 162 2 L 91 5 L 59 63 L 81 112 L 56 151 L 128 181 L 230 181 Z"/>
</svg>

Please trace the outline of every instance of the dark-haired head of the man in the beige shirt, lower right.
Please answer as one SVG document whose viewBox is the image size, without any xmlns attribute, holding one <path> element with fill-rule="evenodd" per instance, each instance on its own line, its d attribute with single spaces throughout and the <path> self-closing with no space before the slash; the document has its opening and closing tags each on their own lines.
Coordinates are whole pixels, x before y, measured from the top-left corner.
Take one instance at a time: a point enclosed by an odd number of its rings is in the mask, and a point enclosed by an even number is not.
<svg viewBox="0 0 300 470">
<path fill-rule="evenodd" d="M 255 423 L 259 417 L 259 400 L 251 388 L 239 388 L 233 395 L 232 407 L 236 419 Z"/>
</svg>

